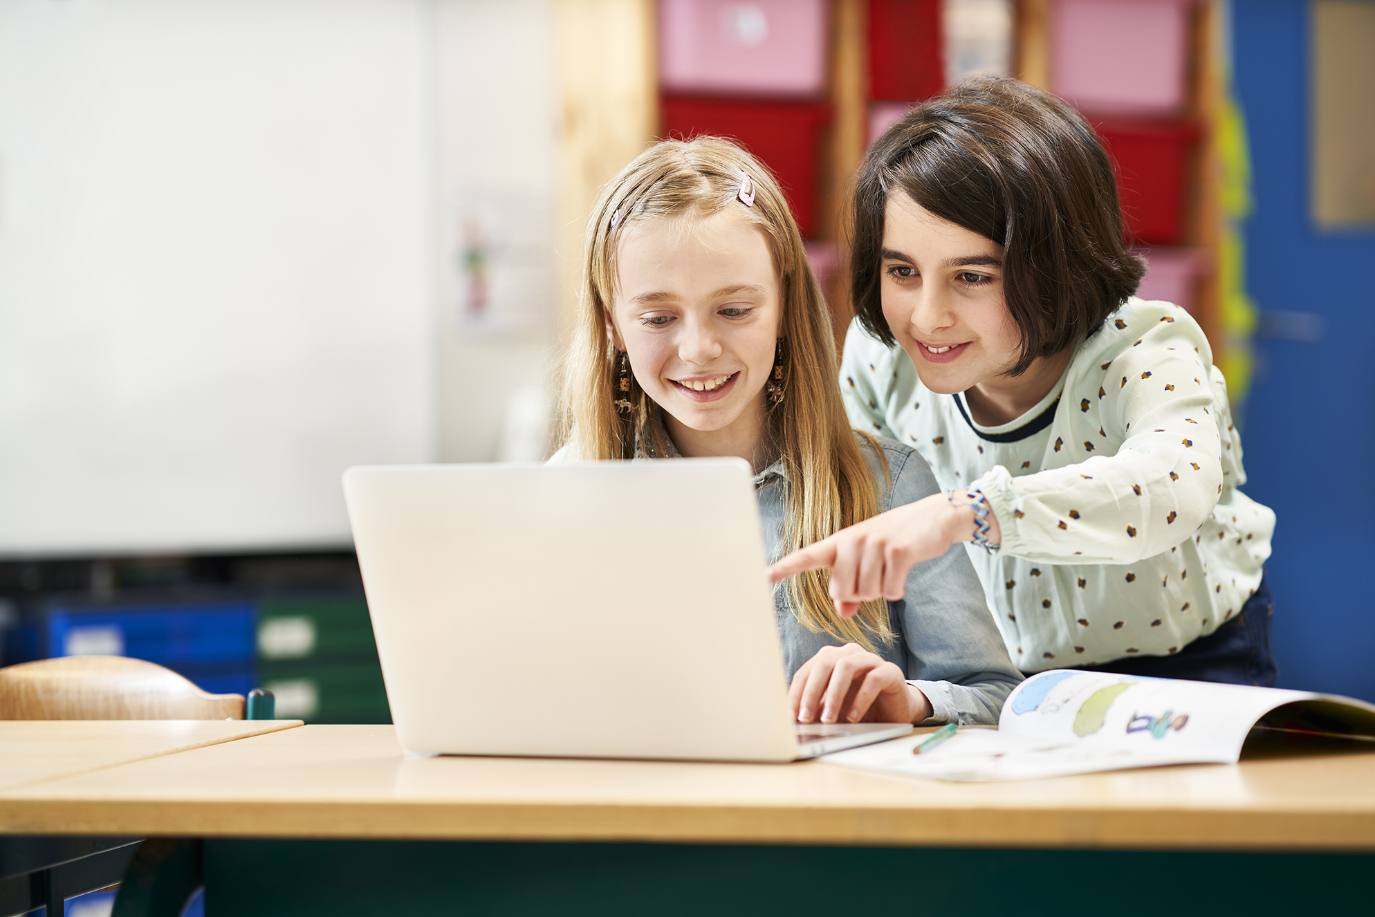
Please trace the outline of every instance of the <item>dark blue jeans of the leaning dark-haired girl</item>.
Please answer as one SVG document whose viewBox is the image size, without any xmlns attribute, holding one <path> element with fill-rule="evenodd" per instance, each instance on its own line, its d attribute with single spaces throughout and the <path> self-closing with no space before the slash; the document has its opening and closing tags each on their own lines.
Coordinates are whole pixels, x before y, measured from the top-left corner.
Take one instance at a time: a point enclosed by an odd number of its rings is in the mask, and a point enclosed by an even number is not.
<svg viewBox="0 0 1375 917">
<path fill-rule="evenodd" d="M 1220 628 L 1200 637 L 1174 656 L 1141 656 L 1116 659 L 1101 665 L 1084 665 L 1092 672 L 1121 672 L 1122 675 L 1150 675 L 1152 678 L 1188 678 L 1195 682 L 1226 682 L 1228 685 L 1260 685 L 1275 687 L 1279 670 L 1270 654 L 1270 616 L 1275 601 L 1270 586 L 1261 584 L 1246 599 L 1242 613 Z"/>
</svg>

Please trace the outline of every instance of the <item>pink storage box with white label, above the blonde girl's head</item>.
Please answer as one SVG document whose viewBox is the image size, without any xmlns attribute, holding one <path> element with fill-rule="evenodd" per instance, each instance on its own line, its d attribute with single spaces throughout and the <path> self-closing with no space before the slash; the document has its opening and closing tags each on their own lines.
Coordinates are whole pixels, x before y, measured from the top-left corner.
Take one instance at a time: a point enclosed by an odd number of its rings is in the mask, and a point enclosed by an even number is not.
<svg viewBox="0 0 1375 917">
<path fill-rule="evenodd" d="M 813 96 L 826 87 L 825 0 L 659 0 L 664 92 Z"/>
</svg>

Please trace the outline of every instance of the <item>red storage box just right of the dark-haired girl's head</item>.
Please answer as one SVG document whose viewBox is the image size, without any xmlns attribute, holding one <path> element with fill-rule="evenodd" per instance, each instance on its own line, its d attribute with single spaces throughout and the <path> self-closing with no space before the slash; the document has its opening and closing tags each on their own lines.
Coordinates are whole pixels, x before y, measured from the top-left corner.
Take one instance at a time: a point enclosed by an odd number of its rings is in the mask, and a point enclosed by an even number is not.
<svg viewBox="0 0 1375 917">
<path fill-rule="evenodd" d="M 1147 245 L 1177 243 L 1198 126 L 1187 121 L 1100 121 L 1093 126 L 1112 158 L 1128 232 Z"/>
</svg>

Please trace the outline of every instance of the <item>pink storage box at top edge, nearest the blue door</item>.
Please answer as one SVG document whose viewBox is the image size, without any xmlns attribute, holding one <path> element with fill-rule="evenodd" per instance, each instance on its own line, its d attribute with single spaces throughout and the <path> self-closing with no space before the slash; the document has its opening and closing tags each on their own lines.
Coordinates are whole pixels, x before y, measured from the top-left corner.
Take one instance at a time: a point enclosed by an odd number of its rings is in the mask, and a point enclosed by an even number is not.
<svg viewBox="0 0 1375 917">
<path fill-rule="evenodd" d="M 1050 85 L 1092 114 L 1184 107 L 1194 0 L 1055 0 Z"/>
</svg>

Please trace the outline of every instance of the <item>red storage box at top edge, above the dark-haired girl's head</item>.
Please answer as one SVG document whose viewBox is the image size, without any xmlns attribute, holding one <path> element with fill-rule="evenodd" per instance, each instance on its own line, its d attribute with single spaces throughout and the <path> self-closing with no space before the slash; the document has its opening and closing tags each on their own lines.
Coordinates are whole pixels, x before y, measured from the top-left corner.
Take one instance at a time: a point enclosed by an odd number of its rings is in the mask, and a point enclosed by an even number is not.
<svg viewBox="0 0 1375 917">
<path fill-rule="evenodd" d="M 869 98 L 920 102 L 942 89 L 940 0 L 869 0 Z"/>
</svg>

